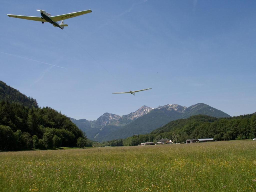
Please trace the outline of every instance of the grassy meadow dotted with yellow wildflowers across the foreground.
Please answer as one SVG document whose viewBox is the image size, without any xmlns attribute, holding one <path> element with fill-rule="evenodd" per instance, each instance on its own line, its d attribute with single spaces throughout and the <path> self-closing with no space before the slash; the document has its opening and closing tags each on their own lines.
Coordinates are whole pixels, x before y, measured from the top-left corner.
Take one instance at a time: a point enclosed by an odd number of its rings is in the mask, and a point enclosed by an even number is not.
<svg viewBox="0 0 256 192">
<path fill-rule="evenodd" d="M 1 152 L 0 191 L 256 191 L 256 141 Z"/>
</svg>

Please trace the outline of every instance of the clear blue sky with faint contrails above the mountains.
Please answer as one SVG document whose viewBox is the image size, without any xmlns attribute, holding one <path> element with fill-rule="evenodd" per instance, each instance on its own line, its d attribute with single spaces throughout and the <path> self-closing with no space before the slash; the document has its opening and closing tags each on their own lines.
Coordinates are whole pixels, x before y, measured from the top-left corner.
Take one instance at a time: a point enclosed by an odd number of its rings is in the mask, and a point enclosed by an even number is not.
<svg viewBox="0 0 256 192">
<path fill-rule="evenodd" d="M 36 9 L 92 13 L 65 20 L 65 31 L 6 15 L 40 16 Z M 253 113 L 255 9 L 255 1 L 1 0 L 0 80 L 75 119 L 165 104 Z"/>
</svg>

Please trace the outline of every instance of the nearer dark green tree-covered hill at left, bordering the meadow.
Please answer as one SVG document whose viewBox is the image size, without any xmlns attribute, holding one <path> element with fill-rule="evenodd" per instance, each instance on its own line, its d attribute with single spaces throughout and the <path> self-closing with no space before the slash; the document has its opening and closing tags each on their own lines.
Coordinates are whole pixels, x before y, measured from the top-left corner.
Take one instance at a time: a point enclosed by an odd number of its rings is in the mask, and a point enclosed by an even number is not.
<svg viewBox="0 0 256 192">
<path fill-rule="evenodd" d="M 0 102 L 0 151 L 85 145 L 82 131 L 56 110 Z"/>
</svg>

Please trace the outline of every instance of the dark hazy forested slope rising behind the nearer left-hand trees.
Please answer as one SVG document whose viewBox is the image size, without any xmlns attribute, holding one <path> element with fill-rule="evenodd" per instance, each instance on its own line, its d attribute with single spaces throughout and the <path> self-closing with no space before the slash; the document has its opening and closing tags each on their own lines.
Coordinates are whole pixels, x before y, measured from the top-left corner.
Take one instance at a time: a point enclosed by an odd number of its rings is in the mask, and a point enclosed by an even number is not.
<svg viewBox="0 0 256 192">
<path fill-rule="evenodd" d="M 20 93 L 17 89 L 8 86 L 3 81 L 0 81 L 0 101 L 6 100 L 10 103 L 22 103 L 24 106 L 35 107 L 37 106 L 37 101 L 32 97 L 27 97 L 26 95 Z"/>
</svg>

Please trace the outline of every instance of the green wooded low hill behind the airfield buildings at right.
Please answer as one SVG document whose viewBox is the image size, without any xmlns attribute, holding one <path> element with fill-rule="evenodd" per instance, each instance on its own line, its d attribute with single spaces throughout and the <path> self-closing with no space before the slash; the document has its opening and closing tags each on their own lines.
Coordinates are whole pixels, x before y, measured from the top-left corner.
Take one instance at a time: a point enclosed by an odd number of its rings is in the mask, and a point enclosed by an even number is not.
<svg viewBox="0 0 256 192">
<path fill-rule="evenodd" d="M 143 142 L 156 142 L 161 138 L 168 138 L 175 143 L 195 138 L 214 138 L 215 141 L 253 139 L 256 138 L 256 115 L 232 118 L 195 115 L 188 119 L 171 121 L 150 134 L 134 135 L 126 139 L 104 142 L 101 145 L 139 145 Z"/>
</svg>

